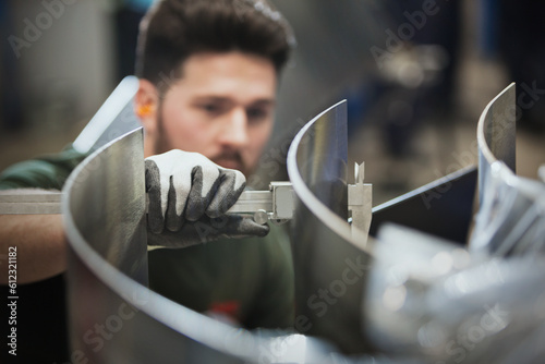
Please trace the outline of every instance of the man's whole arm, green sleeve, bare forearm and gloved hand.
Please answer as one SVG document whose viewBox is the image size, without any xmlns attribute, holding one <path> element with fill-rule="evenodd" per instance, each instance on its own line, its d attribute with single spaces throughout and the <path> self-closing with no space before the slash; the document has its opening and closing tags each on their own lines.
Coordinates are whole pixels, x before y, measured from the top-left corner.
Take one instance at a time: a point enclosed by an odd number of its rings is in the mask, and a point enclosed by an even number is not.
<svg viewBox="0 0 545 364">
<path fill-rule="evenodd" d="M 15 165 L 0 175 L 0 190 L 24 194 L 25 189 L 45 186 L 58 191 L 75 161 L 83 158 L 76 157 Z M 62 158 L 70 163 L 68 167 Z M 202 155 L 171 150 L 148 157 L 148 244 L 184 247 L 221 236 L 266 235 L 268 226 L 225 215 L 242 193 L 244 183 L 241 172 L 223 169 Z M 46 279 L 66 268 L 61 215 L 0 215 L 0 284 L 9 281 L 10 246 L 17 250 L 20 283 Z"/>
</svg>

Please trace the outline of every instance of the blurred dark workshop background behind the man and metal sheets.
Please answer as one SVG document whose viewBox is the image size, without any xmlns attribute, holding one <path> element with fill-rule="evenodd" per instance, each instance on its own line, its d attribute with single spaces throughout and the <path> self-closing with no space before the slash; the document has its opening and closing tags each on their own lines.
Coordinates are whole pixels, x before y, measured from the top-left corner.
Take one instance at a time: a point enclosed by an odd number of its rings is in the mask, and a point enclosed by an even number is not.
<svg viewBox="0 0 545 364">
<path fill-rule="evenodd" d="M 0 170 L 73 141 L 132 74 L 146 0 L 1 1 Z M 350 158 L 374 204 L 476 162 L 476 122 L 516 81 L 518 173 L 545 162 L 545 4 L 272 0 L 298 38 L 262 175 L 286 179 L 296 131 L 348 99 Z"/>
</svg>

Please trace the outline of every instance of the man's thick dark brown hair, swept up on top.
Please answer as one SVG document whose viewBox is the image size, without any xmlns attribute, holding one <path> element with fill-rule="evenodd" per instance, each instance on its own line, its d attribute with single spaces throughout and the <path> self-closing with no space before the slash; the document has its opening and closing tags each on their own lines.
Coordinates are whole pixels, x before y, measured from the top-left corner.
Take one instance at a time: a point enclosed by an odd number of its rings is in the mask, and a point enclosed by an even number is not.
<svg viewBox="0 0 545 364">
<path fill-rule="evenodd" d="M 231 50 L 269 59 L 280 72 L 294 43 L 265 0 L 161 0 L 141 23 L 136 75 L 158 86 L 196 52 Z"/>
</svg>

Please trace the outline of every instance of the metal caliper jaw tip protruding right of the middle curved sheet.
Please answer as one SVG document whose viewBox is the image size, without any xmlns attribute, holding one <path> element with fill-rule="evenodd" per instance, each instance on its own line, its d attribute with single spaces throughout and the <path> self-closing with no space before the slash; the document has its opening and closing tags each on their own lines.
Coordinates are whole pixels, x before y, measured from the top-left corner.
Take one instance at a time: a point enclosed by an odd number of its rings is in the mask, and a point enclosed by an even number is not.
<svg viewBox="0 0 545 364">
<path fill-rule="evenodd" d="M 354 163 L 355 184 L 348 185 L 348 210 L 352 217 L 352 238 L 367 242 L 373 207 L 373 185 L 363 183 L 365 163 Z"/>
</svg>

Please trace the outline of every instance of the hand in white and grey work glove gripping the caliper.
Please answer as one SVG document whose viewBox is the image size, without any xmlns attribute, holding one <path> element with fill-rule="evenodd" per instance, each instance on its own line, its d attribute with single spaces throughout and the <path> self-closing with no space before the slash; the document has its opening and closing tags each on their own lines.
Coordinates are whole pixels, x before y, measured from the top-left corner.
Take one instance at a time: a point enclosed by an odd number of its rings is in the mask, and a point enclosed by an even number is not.
<svg viewBox="0 0 545 364">
<path fill-rule="evenodd" d="M 184 247 L 268 233 L 267 225 L 226 215 L 246 184 L 240 171 L 179 149 L 146 158 L 145 167 L 148 245 Z"/>
</svg>

